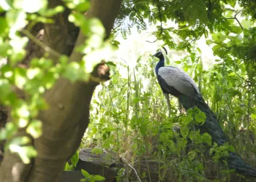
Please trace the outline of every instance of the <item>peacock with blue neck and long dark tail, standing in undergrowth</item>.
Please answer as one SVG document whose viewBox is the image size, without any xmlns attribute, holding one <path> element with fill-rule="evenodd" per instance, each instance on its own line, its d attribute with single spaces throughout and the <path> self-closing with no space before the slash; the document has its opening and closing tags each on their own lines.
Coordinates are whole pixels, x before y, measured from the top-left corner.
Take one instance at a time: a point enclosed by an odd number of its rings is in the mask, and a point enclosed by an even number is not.
<svg viewBox="0 0 256 182">
<path fill-rule="evenodd" d="M 170 108 L 169 95 L 178 98 L 178 101 L 186 111 L 197 106 L 206 114 L 206 122 L 200 127 L 200 132 L 208 132 L 211 135 L 212 141 L 218 145 L 227 143 L 228 138 L 219 125 L 217 116 L 211 111 L 202 95 L 200 95 L 194 80 L 181 68 L 165 66 L 165 57 L 161 51 L 153 56 L 159 58 L 155 72 L 162 92 L 167 99 L 168 108 Z M 230 169 L 235 169 L 242 175 L 256 177 L 256 170 L 247 165 L 241 157 L 238 157 L 238 154 L 230 152 L 227 162 Z"/>
</svg>

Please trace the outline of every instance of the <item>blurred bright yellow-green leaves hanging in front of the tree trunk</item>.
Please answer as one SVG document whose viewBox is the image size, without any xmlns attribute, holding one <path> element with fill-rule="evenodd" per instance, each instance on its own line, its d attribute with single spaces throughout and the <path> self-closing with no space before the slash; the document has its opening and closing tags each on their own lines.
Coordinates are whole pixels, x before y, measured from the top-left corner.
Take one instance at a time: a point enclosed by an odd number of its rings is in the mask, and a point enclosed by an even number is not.
<svg viewBox="0 0 256 182">
<path fill-rule="evenodd" d="M 69 14 L 69 21 L 88 37 L 77 50 L 84 55 L 80 62 L 71 61 L 67 55 L 45 46 L 31 33 L 37 23 L 53 23 L 52 17 L 61 14 L 67 7 L 74 10 Z M 5 145 L 5 149 L 18 153 L 26 164 L 37 154 L 31 141 L 42 134 L 42 122 L 37 116 L 39 111 L 48 108 L 43 98 L 45 90 L 53 87 L 60 77 L 71 82 L 87 82 L 94 66 L 106 58 L 106 52 L 113 50 L 110 42 L 104 41 L 105 29 L 102 23 L 97 18 L 86 19 L 83 15 L 89 7 L 90 3 L 86 0 L 66 0 L 63 6 L 53 9 L 48 8 L 46 0 L 0 2 L 0 63 L 4 60 L 8 62 L 0 67 L 0 100 L 1 104 L 12 108 L 12 122 L 1 128 L 0 136 L 1 140 L 7 141 L 13 138 Z M 32 58 L 24 66 L 23 60 L 28 56 L 25 50 L 28 41 L 34 41 L 46 53 L 42 58 Z M 56 56 L 54 62 L 49 58 L 49 53 Z M 20 98 L 15 90 L 22 92 L 24 98 Z M 15 136 L 18 130 L 26 130 L 31 140 L 18 140 Z"/>
</svg>

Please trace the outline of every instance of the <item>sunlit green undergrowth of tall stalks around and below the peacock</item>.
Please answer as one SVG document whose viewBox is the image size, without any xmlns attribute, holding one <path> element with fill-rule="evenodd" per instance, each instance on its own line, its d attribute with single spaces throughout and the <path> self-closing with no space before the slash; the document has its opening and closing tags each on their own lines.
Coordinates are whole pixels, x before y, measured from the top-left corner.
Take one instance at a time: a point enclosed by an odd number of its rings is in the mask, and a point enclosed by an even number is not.
<svg viewBox="0 0 256 182">
<path fill-rule="evenodd" d="M 176 63 L 197 82 L 230 146 L 218 147 L 210 135 L 192 127 L 205 119 L 198 108 L 184 113 L 172 98 L 169 116 L 148 55 L 141 56 L 135 68 L 120 62 L 111 68 L 111 81 L 94 95 L 91 124 L 83 138 L 83 147 L 110 149 L 121 157 L 124 168 L 118 181 L 250 181 L 227 170 L 225 161 L 234 147 L 256 165 L 256 103 L 244 82 L 245 66 L 217 63 L 206 71 L 196 55 L 192 52 Z"/>
</svg>

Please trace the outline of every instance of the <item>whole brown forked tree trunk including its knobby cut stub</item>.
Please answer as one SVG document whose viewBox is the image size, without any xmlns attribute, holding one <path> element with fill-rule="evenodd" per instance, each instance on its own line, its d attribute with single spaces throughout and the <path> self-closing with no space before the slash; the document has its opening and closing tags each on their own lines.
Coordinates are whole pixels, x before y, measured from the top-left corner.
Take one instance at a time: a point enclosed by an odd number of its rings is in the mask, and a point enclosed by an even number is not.
<svg viewBox="0 0 256 182">
<path fill-rule="evenodd" d="M 56 7 L 61 1 L 49 1 L 49 7 Z M 92 0 L 88 17 L 98 17 L 105 26 L 108 37 L 113 28 L 121 0 Z M 64 21 L 61 19 L 64 18 Z M 72 26 L 67 21 L 67 14 L 55 17 L 56 23 L 45 25 L 44 44 L 61 54 L 70 55 L 70 60 L 80 61 L 79 52 L 70 51 L 67 35 Z M 71 27 L 71 29 L 70 29 Z M 82 44 L 86 37 L 80 32 L 75 46 Z M 69 40 L 70 41 L 70 40 Z M 50 55 L 56 62 L 57 58 Z M 94 76 L 108 79 L 108 68 L 99 65 L 94 68 Z M 43 122 L 42 136 L 34 140 L 37 157 L 30 165 L 24 165 L 17 154 L 4 153 L 0 167 L 0 182 L 55 182 L 59 180 L 65 162 L 75 153 L 80 145 L 83 133 L 89 124 L 89 104 L 97 82 L 75 82 L 59 79 L 54 87 L 45 92 L 49 109 L 41 111 L 38 119 Z"/>
</svg>

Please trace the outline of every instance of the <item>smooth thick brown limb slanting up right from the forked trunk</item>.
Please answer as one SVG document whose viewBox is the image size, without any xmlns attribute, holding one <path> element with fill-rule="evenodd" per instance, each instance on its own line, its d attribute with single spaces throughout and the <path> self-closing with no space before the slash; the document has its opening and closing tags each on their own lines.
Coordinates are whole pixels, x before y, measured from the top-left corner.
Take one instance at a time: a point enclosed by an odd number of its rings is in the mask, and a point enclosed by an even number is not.
<svg viewBox="0 0 256 182">
<path fill-rule="evenodd" d="M 108 37 L 120 7 L 121 0 L 94 0 L 91 1 L 91 9 L 87 12 L 87 16 L 98 17 L 105 26 Z M 49 37 L 51 37 L 49 33 L 54 31 L 50 26 L 45 28 Z M 86 37 L 80 31 L 75 47 L 83 44 L 85 40 Z M 48 41 L 51 43 L 49 39 Z M 53 42 L 53 45 L 50 47 L 62 52 L 60 44 Z M 83 55 L 74 50 L 70 60 L 80 61 Z M 56 181 L 59 177 L 68 157 L 78 149 L 89 124 L 89 104 L 96 85 L 95 82 L 71 84 L 67 79 L 60 79 L 53 89 L 45 94 L 50 110 L 39 115 L 39 119 L 44 121 L 44 132 L 42 137 L 35 141 L 39 154 L 29 176 L 29 182 Z M 58 107 L 60 104 L 64 106 L 63 109 Z M 45 173 L 39 173 L 40 171 Z M 53 171 L 55 174 L 52 175 Z"/>
</svg>

